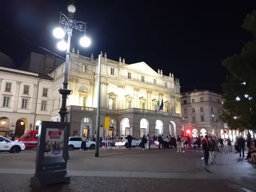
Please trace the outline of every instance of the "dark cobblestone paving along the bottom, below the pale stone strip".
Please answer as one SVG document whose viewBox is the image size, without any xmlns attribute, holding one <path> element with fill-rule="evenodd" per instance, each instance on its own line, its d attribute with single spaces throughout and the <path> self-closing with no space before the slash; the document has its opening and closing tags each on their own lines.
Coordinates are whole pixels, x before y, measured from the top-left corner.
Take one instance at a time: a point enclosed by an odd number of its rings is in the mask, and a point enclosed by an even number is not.
<svg viewBox="0 0 256 192">
<path fill-rule="evenodd" d="M 226 180 L 71 177 L 71 184 L 29 187 L 32 175 L 6 174 L 0 192 L 241 192 Z"/>
</svg>

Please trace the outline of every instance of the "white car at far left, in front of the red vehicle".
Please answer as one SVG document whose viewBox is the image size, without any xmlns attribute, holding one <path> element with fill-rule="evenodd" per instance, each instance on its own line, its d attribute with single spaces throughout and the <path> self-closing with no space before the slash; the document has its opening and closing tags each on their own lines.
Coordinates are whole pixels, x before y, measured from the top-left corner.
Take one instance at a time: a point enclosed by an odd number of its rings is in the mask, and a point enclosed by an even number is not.
<svg viewBox="0 0 256 192">
<path fill-rule="evenodd" d="M 19 153 L 25 149 L 25 145 L 21 142 L 11 141 L 0 136 L 0 152 Z"/>
</svg>

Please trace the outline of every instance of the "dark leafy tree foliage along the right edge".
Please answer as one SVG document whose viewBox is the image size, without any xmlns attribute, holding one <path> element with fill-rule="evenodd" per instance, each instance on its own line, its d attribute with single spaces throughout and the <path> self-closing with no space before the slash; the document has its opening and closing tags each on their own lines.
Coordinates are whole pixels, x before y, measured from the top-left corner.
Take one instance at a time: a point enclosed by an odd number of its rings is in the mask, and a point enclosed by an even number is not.
<svg viewBox="0 0 256 192">
<path fill-rule="evenodd" d="M 241 53 L 223 61 L 229 75 L 222 84 L 221 119 L 232 129 L 256 131 L 256 12 L 246 16 L 242 27 L 252 33 L 253 40 L 244 44 Z"/>
</svg>

